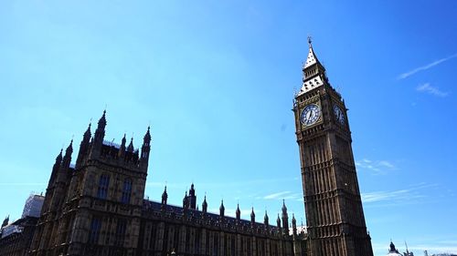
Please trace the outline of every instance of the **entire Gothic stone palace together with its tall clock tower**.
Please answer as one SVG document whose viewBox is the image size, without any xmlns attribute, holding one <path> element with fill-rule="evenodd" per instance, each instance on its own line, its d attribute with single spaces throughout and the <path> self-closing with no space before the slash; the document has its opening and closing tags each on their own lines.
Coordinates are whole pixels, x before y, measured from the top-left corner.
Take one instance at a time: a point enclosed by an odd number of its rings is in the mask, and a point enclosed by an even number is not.
<svg viewBox="0 0 457 256">
<path fill-rule="evenodd" d="M 141 148 L 125 135 L 114 144 L 104 139 L 103 112 L 75 164 L 73 141 L 58 154 L 27 255 L 372 256 L 345 102 L 309 46 L 293 104 L 306 232 L 293 215 L 289 227 L 285 202 L 276 221 L 267 212 L 258 221 L 253 209 L 250 220 L 239 208 L 226 216 L 223 201 L 218 214 L 207 212 L 206 197 L 199 208 L 194 184 L 182 206 L 168 204 L 166 187 L 160 201 L 145 200 L 150 129 Z"/>
</svg>

